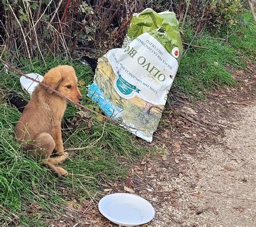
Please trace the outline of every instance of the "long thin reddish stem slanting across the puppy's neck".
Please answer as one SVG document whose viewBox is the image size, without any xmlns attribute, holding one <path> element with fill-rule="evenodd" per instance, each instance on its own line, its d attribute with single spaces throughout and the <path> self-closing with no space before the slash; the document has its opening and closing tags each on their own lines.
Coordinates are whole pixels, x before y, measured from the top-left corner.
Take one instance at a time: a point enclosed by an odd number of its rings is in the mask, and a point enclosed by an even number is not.
<svg viewBox="0 0 256 227">
<path fill-rule="evenodd" d="M 77 107 L 80 107 L 80 108 L 83 108 L 83 109 L 85 109 L 85 110 L 87 110 L 87 111 L 93 112 L 93 113 L 95 113 L 97 116 L 100 116 L 100 117 L 102 117 L 102 118 L 104 118 L 104 119 L 107 119 L 107 120 L 111 120 L 111 122 L 114 122 L 114 123 L 116 123 L 116 124 L 121 124 L 121 125 L 123 125 L 123 126 L 125 126 L 125 127 L 128 127 L 129 129 L 134 129 L 133 127 L 127 126 L 127 125 L 123 124 L 122 122 L 119 122 L 118 120 L 115 120 L 115 119 L 113 119 L 113 118 L 111 118 L 111 117 L 109 117 L 109 116 L 105 116 L 105 115 L 102 115 L 101 113 L 98 113 L 98 112 L 96 112 L 96 111 L 94 111 L 94 110 L 91 110 L 90 108 L 86 107 L 85 105 L 82 105 L 82 104 L 80 104 L 80 103 L 78 103 L 78 102 L 72 101 L 71 98 L 69 98 L 69 97 L 66 96 L 66 95 L 63 95 L 63 94 L 59 93 L 57 90 L 55 90 L 55 89 L 49 87 L 49 86 L 46 85 L 45 83 L 39 82 L 39 81 L 37 81 L 37 80 L 31 78 L 30 76 L 27 76 L 26 74 L 24 74 L 23 72 L 21 72 L 21 70 L 16 69 L 16 68 L 15 68 L 14 66 L 12 66 L 10 63 L 4 61 L 2 58 L 0 58 L 0 61 L 2 61 L 2 63 L 4 63 L 4 65 L 8 66 L 8 67 L 11 68 L 12 70 L 14 70 L 16 73 L 21 74 L 22 76 L 25 76 L 27 79 L 32 80 L 33 82 L 36 82 L 36 83 L 41 84 L 43 87 L 48 88 L 49 90 L 53 91 L 53 93 L 57 94 L 58 96 L 63 97 L 63 98 L 65 98 L 65 100 L 68 100 L 69 102 L 71 102 L 71 103 L 77 105 Z"/>
</svg>

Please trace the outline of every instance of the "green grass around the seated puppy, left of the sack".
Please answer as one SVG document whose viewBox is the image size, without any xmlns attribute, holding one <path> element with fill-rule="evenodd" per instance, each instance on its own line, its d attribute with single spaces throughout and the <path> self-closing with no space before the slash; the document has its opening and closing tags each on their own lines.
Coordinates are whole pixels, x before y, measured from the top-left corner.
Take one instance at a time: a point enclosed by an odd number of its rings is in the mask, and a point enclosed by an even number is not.
<svg viewBox="0 0 256 227">
<path fill-rule="evenodd" d="M 41 75 L 46 70 L 59 64 L 69 63 L 75 67 L 78 80 L 84 81 L 80 86 L 86 95 L 86 85 L 92 81 L 91 70 L 78 61 L 48 59 L 47 68 L 40 60 L 33 60 L 33 69 L 23 61 L 23 72 L 36 72 Z M 19 75 L 10 72 L 0 74 L 0 88 L 6 92 L 15 90 L 20 94 Z M 83 83 L 82 83 L 83 84 Z M 24 95 L 29 99 L 28 96 Z M 97 109 L 89 98 L 84 104 Z M 68 105 L 64 119 L 72 118 L 78 110 Z M 62 165 L 70 176 L 64 181 L 53 178 L 51 173 L 33 160 L 26 157 L 16 143 L 14 127 L 20 113 L 8 103 L 0 104 L 0 225 L 41 226 L 45 218 L 52 216 L 53 211 L 62 212 L 66 201 L 76 199 L 78 202 L 94 195 L 104 180 L 117 180 L 125 177 L 125 167 L 118 157 L 131 162 L 144 152 L 136 146 L 131 134 L 111 123 L 92 118 L 93 125 L 81 122 L 76 129 L 63 130 L 65 148 L 71 150 L 71 159 Z M 65 193 L 63 194 L 63 190 Z M 37 207 L 35 209 L 35 207 Z"/>
</svg>

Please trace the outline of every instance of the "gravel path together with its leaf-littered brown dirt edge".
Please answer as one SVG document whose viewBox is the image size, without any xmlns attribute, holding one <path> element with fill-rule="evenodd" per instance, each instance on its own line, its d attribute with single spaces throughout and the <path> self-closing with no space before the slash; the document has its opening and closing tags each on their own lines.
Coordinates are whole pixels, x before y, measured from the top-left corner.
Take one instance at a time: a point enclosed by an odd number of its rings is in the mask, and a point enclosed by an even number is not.
<svg viewBox="0 0 256 227">
<path fill-rule="evenodd" d="M 173 95 L 146 144 L 154 152 L 132 164 L 126 180 L 106 182 L 101 193 L 129 188 L 146 198 L 156 209 L 148 226 L 255 226 L 255 72 L 253 63 L 234 72 L 239 86 L 214 90 L 206 101 L 191 104 Z M 78 208 L 70 204 L 52 226 L 115 226 L 93 198 Z"/>
</svg>

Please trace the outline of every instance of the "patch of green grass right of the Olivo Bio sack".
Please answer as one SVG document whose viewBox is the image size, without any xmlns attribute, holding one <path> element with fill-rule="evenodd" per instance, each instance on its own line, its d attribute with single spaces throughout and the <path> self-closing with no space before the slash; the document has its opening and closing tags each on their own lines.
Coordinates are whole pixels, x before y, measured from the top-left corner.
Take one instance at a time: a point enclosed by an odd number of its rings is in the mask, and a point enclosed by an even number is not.
<svg viewBox="0 0 256 227">
<path fill-rule="evenodd" d="M 226 68 L 244 69 L 246 59 L 255 59 L 256 26 L 250 12 L 245 12 L 237 26 L 228 28 L 221 38 L 204 32 L 193 41 L 193 45 L 181 60 L 174 87 L 193 98 L 204 98 L 205 91 L 221 86 L 235 86 L 237 82 Z M 194 36 L 190 26 L 184 29 L 184 40 L 190 42 Z M 186 48 L 186 46 L 184 46 Z"/>
</svg>

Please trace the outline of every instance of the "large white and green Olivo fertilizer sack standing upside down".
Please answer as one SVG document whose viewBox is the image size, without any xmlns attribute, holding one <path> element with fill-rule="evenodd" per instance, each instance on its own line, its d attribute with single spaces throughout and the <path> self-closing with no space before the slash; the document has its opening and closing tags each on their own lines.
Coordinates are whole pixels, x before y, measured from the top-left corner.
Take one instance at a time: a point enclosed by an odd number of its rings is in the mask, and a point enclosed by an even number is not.
<svg viewBox="0 0 256 227">
<path fill-rule="evenodd" d="M 123 47 L 98 59 L 88 96 L 127 130 L 152 141 L 182 52 L 173 12 L 135 14 Z"/>
</svg>

